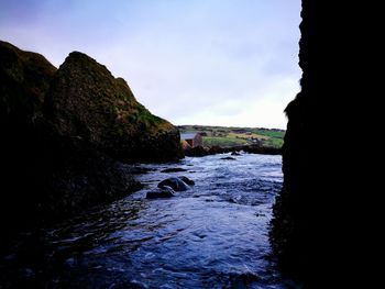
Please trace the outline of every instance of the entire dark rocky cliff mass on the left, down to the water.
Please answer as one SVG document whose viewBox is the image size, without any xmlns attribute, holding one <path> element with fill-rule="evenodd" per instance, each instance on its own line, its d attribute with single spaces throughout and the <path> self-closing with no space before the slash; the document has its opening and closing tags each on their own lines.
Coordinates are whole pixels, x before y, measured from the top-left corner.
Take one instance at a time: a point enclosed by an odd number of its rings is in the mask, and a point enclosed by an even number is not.
<svg viewBox="0 0 385 289">
<path fill-rule="evenodd" d="M 56 69 L 0 42 L 0 65 L 1 226 L 61 219 L 136 190 L 120 162 L 177 159 L 177 130 L 90 57 L 72 53 Z"/>
</svg>

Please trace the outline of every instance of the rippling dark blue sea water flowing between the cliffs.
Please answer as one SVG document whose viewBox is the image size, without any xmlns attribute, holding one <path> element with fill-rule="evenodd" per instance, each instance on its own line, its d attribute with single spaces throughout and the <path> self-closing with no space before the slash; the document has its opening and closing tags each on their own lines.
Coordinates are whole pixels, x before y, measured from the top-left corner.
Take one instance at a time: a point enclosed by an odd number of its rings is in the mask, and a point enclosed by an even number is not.
<svg viewBox="0 0 385 289">
<path fill-rule="evenodd" d="M 223 156 L 144 165 L 153 171 L 138 176 L 143 190 L 24 233 L 3 256 L 3 287 L 18 280 L 45 288 L 289 288 L 268 258 L 282 157 Z M 187 171 L 161 173 L 169 167 Z M 174 198 L 145 199 L 169 176 L 196 185 Z"/>
</svg>

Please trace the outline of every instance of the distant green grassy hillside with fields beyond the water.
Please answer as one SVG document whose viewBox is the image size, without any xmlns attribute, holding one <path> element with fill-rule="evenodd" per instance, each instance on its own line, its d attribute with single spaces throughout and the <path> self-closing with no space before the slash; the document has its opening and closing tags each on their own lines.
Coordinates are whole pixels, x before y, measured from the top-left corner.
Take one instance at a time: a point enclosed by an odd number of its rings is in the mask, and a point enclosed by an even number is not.
<svg viewBox="0 0 385 289">
<path fill-rule="evenodd" d="M 206 146 L 235 146 L 261 144 L 262 146 L 282 147 L 284 130 L 261 127 L 227 127 L 206 125 L 179 125 L 180 133 L 200 132 Z"/>
</svg>

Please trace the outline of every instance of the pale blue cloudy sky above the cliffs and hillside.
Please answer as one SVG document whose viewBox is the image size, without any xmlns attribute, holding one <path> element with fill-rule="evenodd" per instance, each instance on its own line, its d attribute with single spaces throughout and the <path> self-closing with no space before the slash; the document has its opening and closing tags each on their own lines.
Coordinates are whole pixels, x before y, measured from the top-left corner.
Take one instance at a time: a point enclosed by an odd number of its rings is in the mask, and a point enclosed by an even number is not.
<svg viewBox="0 0 385 289">
<path fill-rule="evenodd" d="M 179 125 L 285 129 L 299 23 L 300 0 L 0 0 L 0 40 L 86 53 Z"/>
</svg>

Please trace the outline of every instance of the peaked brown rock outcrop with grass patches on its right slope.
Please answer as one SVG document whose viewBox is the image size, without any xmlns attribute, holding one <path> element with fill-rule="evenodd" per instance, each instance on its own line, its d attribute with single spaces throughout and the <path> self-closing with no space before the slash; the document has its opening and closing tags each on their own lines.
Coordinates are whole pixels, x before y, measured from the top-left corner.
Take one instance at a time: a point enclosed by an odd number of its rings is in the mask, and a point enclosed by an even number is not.
<svg viewBox="0 0 385 289">
<path fill-rule="evenodd" d="M 70 53 L 55 74 L 45 115 L 62 135 L 80 136 L 123 160 L 175 160 L 179 132 L 134 98 L 122 78 L 85 54 Z"/>
</svg>

